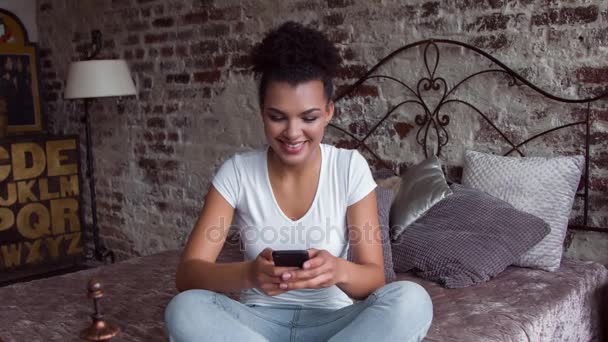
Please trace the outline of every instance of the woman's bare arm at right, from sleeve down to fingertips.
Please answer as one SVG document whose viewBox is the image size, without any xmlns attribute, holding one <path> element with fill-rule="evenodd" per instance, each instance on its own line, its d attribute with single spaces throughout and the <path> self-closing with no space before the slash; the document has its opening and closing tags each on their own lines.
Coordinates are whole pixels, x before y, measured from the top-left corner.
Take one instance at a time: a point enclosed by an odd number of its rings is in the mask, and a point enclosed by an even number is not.
<svg viewBox="0 0 608 342">
<path fill-rule="evenodd" d="M 337 285 L 351 298 L 365 298 L 382 287 L 384 259 L 378 224 L 376 192 L 372 191 L 346 211 L 353 262 L 325 250 L 310 249 L 304 269 L 282 275 L 281 289 L 323 288 Z"/>
</svg>

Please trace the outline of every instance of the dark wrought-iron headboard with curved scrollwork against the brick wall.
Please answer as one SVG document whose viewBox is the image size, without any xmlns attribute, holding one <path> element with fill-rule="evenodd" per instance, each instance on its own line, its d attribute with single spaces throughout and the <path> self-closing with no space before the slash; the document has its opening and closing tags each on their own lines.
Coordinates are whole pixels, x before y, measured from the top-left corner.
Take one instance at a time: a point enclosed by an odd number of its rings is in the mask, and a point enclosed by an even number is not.
<svg viewBox="0 0 608 342">
<path fill-rule="evenodd" d="M 491 61 L 493 63 L 493 67 L 472 73 L 472 74 L 464 77 L 459 82 L 457 82 L 451 89 L 448 89 L 448 83 L 446 82 L 446 80 L 443 77 L 440 77 L 436 74 L 437 67 L 439 65 L 439 60 L 440 60 L 440 51 L 439 51 L 439 46 L 438 46 L 439 44 L 459 46 L 459 47 L 464 48 L 465 50 L 471 50 L 471 51 L 477 53 L 478 55 L 483 56 L 486 59 L 488 59 L 489 61 Z M 426 74 L 423 77 L 421 77 L 420 79 L 418 79 L 418 81 L 416 82 L 415 88 L 410 87 L 406 82 L 404 82 L 396 77 L 393 77 L 390 75 L 376 75 L 375 74 L 375 72 L 381 66 L 385 65 L 389 61 L 396 58 L 397 55 L 400 55 L 403 52 L 416 48 L 416 47 L 423 47 L 423 49 L 424 49 L 422 57 L 424 60 L 425 70 L 423 70 L 423 72 L 426 72 Z M 429 62 L 431 62 L 431 63 L 429 63 Z M 540 133 L 536 133 L 528 138 L 525 138 L 521 142 L 514 142 L 512 139 L 510 139 L 505 134 L 505 132 L 503 130 L 501 130 L 489 118 L 488 115 L 486 115 L 483 111 L 481 111 L 477 106 L 471 104 L 468 101 L 461 100 L 461 99 L 455 98 L 453 96 L 454 92 L 459 87 L 461 87 L 463 84 L 466 84 L 467 82 L 471 81 L 472 79 L 476 78 L 477 76 L 484 75 L 484 74 L 505 75 L 508 78 L 509 87 L 513 87 L 515 85 L 527 86 L 530 89 L 532 89 L 534 92 L 540 94 L 542 97 L 556 101 L 556 102 L 586 105 L 585 118 L 584 118 L 584 120 L 573 121 L 573 122 L 569 122 L 569 123 L 566 123 L 563 125 L 552 127 L 548 130 L 542 131 Z M 504 63 L 502 63 L 501 61 L 499 61 L 492 55 L 490 55 L 474 46 L 471 46 L 471 45 L 468 45 L 468 44 L 465 44 L 462 42 L 454 41 L 454 40 L 448 40 L 448 39 L 430 39 L 430 40 L 418 41 L 418 42 L 415 42 L 412 44 L 405 45 L 405 46 L 391 52 L 389 55 L 387 55 L 382 60 L 380 60 L 380 62 L 378 62 L 376 65 L 374 65 L 371 69 L 369 69 L 365 73 L 365 75 L 363 75 L 361 78 L 359 78 L 354 84 L 346 87 L 344 89 L 344 91 L 341 91 L 338 94 L 336 94 L 335 101 L 339 103 L 340 100 L 342 100 L 344 98 L 356 95 L 357 89 L 359 87 L 361 87 L 363 85 L 363 83 L 365 83 L 366 81 L 371 80 L 371 79 L 385 79 L 385 80 L 389 80 L 391 82 L 395 82 L 396 84 L 402 86 L 403 89 L 413 97 L 413 99 L 410 98 L 408 100 L 404 100 L 404 101 L 392 106 L 391 108 L 389 108 L 388 112 L 384 116 L 382 116 L 381 119 L 378 120 L 369 130 L 367 130 L 367 132 L 363 135 L 362 138 L 358 138 L 355 133 L 349 131 L 348 129 L 342 128 L 334 123 L 330 123 L 329 126 L 340 131 L 341 133 L 345 134 L 346 136 L 348 136 L 353 142 L 353 144 L 350 147 L 357 148 L 357 149 L 362 148 L 362 149 L 366 150 L 374 159 L 376 159 L 376 161 L 380 165 L 383 165 L 384 167 L 389 168 L 389 169 L 393 169 L 393 167 L 391 166 L 391 163 L 388 163 L 385 160 L 383 160 L 382 158 L 380 158 L 378 156 L 378 154 L 376 154 L 372 150 L 372 148 L 370 148 L 366 144 L 366 140 L 368 140 L 374 134 L 374 132 L 392 114 L 396 113 L 397 109 L 399 109 L 400 107 L 402 107 L 404 105 L 409 105 L 409 104 L 416 105 L 416 106 L 419 106 L 423 110 L 424 114 L 416 115 L 414 122 L 418 126 L 418 130 L 416 132 L 416 142 L 423 148 L 425 157 L 428 157 L 429 151 L 432 151 L 432 153 L 437 156 L 441 156 L 443 147 L 446 146 L 448 144 L 448 142 L 450 141 L 450 134 L 448 132 L 448 126 L 450 124 L 450 116 L 448 114 L 442 114 L 442 112 L 441 112 L 442 108 L 445 105 L 450 104 L 450 103 L 458 103 L 458 104 L 468 107 L 473 112 L 479 114 L 479 116 L 487 124 L 489 124 L 489 126 L 492 127 L 492 129 L 494 129 L 496 132 L 498 132 L 498 134 L 502 137 L 504 142 L 506 142 L 510 146 L 510 149 L 506 153 L 503 154 L 505 156 L 510 155 L 514 152 L 516 152 L 520 156 L 525 156 L 525 154 L 521 150 L 521 148 L 523 146 L 525 146 L 526 144 L 528 144 L 529 142 L 536 140 L 539 137 L 542 137 L 544 135 L 547 135 L 547 134 L 552 133 L 557 130 L 562 130 L 562 129 L 572 127 L 572 126 L 584 126 L 584 130 L 585 130 L 585 135 L 584 135 L 585 167 L 584 167 L 584 176 L 583 176 L 584 177 L 584 186 L 582 189 L 582 193 L 577 194 L 578 197 L 583 198 L 583 206 L 584 206 L 583 207 L 583 222 L 582 222 L 582 225 L 570 226 L 569 228 L 575 229 L 575 230 L 587 230 L 587 231 L 598 231 L 598 232 L 608 233 L 607 228 L 597 228 L 597 227 L 588 226 L 591 104 L 596 101 L 602 100 L 602 99 L 608 100 L 608 93 L 603 93 L 603 94 L 600 94 L 600 95 L 597 95 L 594 97 L 578 98 L 578 99 L 563 98 L 560 96 L 550 94 L 550 93 L 540 89 L 538 86 L 534 85 L 532 82 L 528 81 L 526 78 L 524 78 L 517 72 L 513 71 L 511 68 L 507 67 Z M 423 92 L 426 92 L 426 91 L 442 91 L 442 93 L 440 93 L 441 95 L 440 95 L 439 101 L 436 103 L 432 103 L 432 104 L 427 103 L 427 101 L 425 101 L 425 98 L 422 96 Z M 433 106 L 431 106 L 431 105 L 433 105 Z M 430 132 L 433 133 L 435 139 L 430 138 L 430 134 L 429 134 Z M 394 169 L 393 169 L 393 171 L 394 171 Z"/>
</svg>

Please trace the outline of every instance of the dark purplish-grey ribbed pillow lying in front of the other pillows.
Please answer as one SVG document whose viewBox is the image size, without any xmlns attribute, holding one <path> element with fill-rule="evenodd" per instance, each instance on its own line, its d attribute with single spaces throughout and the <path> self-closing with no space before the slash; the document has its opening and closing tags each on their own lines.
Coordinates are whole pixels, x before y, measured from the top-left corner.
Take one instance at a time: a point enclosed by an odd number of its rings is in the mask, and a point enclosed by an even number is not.
<svg viewBox="0 0 608 342">
<path fill-rule="evenodd" d="M 482 191 L 454 193 L 412 223 L 392 244 L 395 271 L 448 288 L 488 281 L 546 236 L 540 218 Z"/>
</svg>

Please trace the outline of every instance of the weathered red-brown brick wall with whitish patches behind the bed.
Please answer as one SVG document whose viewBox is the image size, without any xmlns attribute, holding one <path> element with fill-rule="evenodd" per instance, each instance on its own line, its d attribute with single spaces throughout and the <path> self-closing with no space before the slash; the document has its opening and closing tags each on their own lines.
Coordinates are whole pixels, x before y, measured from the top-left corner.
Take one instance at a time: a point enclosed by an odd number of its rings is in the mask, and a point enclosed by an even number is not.
<svg viewBox="0 0 608 342">
<path fill-rule="evenodd" d="M 403 3 L 38 0 L 42 92 L 51 133 L 83 132 L 82 105 L 64 101 L 62 95 L 67 66 L 81 58 L 92 29 L 104 33 L 100 57 L 128 60 L 139 85 L 138 99 L 104 99 L 91 108 L 99 221 L 107 245 L 120 259 L 182 245 L 214 170 L 233 152 L 264 142 L 246 54 L 265 31 L 284 20 L 312 24 L 328 33 L 345 60 L 339 85 L 352 82 L 405 43 L 443 37 L 491 52 L 543 89 L 562 96 L 587 96 L 608 88 L 605 1 Z M 420 53 L 414 51 L 400 59 L 400 66 L 387 70 L 408 79 L 420 76 Z M 438 72 L 456 77 L 479 65 L 452 49 L 442 52 Z M 383 87 L 366 84 L 358 96 L 341 104 L 336 122 L 361 132 L 371 127 L 372 118 L 394 104 L 394 95 L 399 94 Z M 492 86 L 480 91 L 487 95 L 483 103 L 490 115 L 516 137 L 533 132 L 528 128 L 530 113 L 545 124 L 559 121 L 556 112 L 563 111 L 561 106 L 543 107 L 537 101 L 529 101 L 531 105 L 508 101 L 505 91 L 507 95 L 522 91 L 518 88 Z M 567 109 L 563 115 L 576 117 L 577 110 Z M 608 226 L 608 110 L 597 108 L 593 113 L 593 223 Z M 459 148 L 469 142 L 492 150 L 496 135 L 484 133 L 478 119 L 469 115 L 458 121 L 454 114 L 452 122 L 454 147 L 446 150 L 448 157 L 458 159 Z M 466 133 L 471 127 L 473 133 Z M 417 128 L 407 112 L 383 130 L 386 134 L 373 143 L 382 156 L 406 165 L 422 158 L 413 144 Z M 333 137 L 328 141 L 346 144 L 335 132 L 329 135 Z M 576 153 L 576 147 L 569 145 L 571 135 L 547 138 L 531 149 L 541 154 Z M 556 141 L 567 144 L 547 148 Z M 608 263 L 607 248 L 608 234 L 577 233 L 568 253 Z"/>
</svg>

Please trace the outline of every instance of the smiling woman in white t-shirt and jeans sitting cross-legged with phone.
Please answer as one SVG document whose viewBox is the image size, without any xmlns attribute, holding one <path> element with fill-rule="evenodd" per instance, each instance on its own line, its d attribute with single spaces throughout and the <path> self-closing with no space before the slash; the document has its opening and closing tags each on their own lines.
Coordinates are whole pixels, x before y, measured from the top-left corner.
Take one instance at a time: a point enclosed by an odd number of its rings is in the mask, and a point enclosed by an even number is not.
<svg viewBox="0 0 608 342">
<path fill-rule="evenodd" d="M 367 161 L 321 143 L 334 113 L 336 48 L 321 32 L 287 22 L 251 57 L 268 144 L 217 171 L 178 265 L 182 292 L 165 311 L 170 339 L 421 340 L 430 297 L 412 282 L 385 285 Z M 231 225 L 245 260 L 216 263 Z M 307 250 L 309 258 L 301 268 L 277 266 L 272 252 L 282 250 Z M 225 295 L 234 290 L 240 301 Z"/>
</svg>

